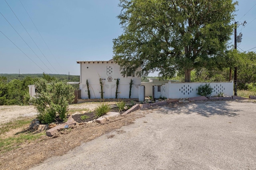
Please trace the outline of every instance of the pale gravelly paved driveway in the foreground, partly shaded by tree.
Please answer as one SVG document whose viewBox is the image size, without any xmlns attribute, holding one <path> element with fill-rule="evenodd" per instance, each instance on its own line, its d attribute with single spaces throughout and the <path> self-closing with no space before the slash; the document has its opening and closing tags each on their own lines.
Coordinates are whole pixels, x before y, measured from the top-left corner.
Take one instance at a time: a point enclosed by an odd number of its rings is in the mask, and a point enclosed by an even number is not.
<svg viewBox="0 0 256 170">
<path fill-rule="evenodd" d="M 255 102 L 186 103 L 139 113 L 145 117 L 134 124 L 34 169 L 256 169 Z"/>
</svg>

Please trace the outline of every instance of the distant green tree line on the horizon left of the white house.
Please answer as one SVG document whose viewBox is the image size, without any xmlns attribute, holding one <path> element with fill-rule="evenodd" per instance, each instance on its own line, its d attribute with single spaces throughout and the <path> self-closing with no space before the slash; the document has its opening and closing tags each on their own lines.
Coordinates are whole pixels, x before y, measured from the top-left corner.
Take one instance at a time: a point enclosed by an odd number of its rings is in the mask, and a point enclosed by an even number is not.
<svg viewBox="0 0 256 170">
<path fill-rule="evenodd" d="M 68 77 L 70 79 L 68 79 Z M 52 81 L 80 81 L 79 75 L 48 75 L 48 74 L 0 74 L 0 105 L 28 105 L 28 85 L 33 85 L 38 79 Z M 78 89 L 78 85 L 73 85 Z"/>
</svg>

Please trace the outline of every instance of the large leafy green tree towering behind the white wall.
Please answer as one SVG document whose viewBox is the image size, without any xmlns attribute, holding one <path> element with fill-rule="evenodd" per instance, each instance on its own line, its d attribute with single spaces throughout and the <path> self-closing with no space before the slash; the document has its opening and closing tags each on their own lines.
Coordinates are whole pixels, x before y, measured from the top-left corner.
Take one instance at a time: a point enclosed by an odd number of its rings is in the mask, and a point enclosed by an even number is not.
<svg viewBox="0 0 256 170">
<path fill-rule="evenodd" d="M 214 63 L 226 49 L 237 2 L 232 0 L 120 0 L 123 33 L 113 40 L 123 74 L 163 78 Z"/>
</svg>

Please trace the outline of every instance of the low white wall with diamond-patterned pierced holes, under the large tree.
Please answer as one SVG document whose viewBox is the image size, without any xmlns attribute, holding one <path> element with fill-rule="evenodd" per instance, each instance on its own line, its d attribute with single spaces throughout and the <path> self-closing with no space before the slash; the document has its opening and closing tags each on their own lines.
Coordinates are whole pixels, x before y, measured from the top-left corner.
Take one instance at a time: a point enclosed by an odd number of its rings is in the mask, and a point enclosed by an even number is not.
<svg viewBox="0 0 256 170">
<path fill-rule="evenodd" d="M 154 86 L 154 98 L 166 97 L 170 99 L 198 97 L 198 87 L 207 83 L 172 83 Z M 210 83 L 213 89 L 210 96 L 217 96 L 224 93 L 225 96 L 233 95 L 233 81 Z"/>
</svg>

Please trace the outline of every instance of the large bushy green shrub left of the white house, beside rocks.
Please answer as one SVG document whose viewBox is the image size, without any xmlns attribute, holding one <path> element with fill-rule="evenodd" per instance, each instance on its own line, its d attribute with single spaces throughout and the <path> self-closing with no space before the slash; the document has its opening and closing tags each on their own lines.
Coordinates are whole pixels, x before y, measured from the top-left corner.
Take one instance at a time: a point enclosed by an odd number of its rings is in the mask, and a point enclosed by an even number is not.
<svg viewBox="0 0 256 170">
<path fill-rule="evenodd" d="M 49 124 L 56 119 L 64 121 L 68 112 L 68 104 L 74 101 L 74 87 L 66 82 L 45 79 L 35 82 L 36 95 L 30 101 L 38 111 L 37 118 L 41 123 Z"/>
</svg>

